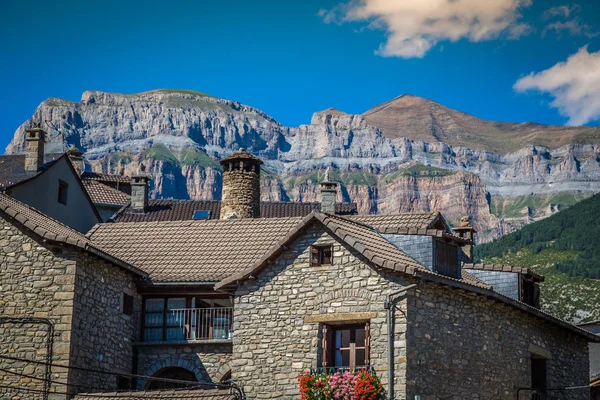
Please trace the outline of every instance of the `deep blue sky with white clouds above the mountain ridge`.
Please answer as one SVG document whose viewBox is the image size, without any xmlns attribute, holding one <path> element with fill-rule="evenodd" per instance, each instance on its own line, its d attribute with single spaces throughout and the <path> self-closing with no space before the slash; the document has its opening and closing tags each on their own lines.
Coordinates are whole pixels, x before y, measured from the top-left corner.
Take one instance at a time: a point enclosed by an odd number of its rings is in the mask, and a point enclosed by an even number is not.
<svg viewBox="0 0 600 400">
<path fill-rule="evenodd" d="M 473 1 L 4 0 L 0 148 L 41 101 L 88 89 L 198 90 L 290 126 L 403 93 L 485 119 L 598 124 L 600 2 Z"/>
</svg>

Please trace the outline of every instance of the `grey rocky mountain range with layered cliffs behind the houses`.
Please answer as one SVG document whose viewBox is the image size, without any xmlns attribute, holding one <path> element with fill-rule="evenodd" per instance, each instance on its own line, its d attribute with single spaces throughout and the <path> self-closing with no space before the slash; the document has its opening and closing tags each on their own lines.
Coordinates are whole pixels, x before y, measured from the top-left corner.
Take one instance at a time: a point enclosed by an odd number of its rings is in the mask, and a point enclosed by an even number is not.
<svg viewBox="0 0 600 400">
<path fill-rule="evenodd" d="M 86 91 L 80 102 L 42 102 L 6 152 L 23 152 L 25 129 L 44 121 L 48 151 L 74 144 L 97 172 L 144 164 L 154 197 L 219 198 L 217 161 L 244 147 L 265 161 L 264 200 L 318 200 L 330 167 L 339 200 L 361 213 L 439 210 L 450 223 L 470 215 L 482 242 L 600 192 L 600 128 L 485 121 L 411 95 L 286 127 L 199 92 Z"/>
</svg>

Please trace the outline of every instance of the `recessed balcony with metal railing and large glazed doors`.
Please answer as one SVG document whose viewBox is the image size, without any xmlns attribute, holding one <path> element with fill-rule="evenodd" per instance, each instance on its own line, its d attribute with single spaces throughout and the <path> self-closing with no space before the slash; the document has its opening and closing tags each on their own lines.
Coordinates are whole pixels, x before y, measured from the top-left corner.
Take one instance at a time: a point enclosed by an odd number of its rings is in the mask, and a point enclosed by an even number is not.
<svg viewBox="0 0 600 400">
<path fill-rule="evenodd" d="M 144 317 L 144 342 L 231 340 L 233 307 L 172 308 Z"/>
</svg>

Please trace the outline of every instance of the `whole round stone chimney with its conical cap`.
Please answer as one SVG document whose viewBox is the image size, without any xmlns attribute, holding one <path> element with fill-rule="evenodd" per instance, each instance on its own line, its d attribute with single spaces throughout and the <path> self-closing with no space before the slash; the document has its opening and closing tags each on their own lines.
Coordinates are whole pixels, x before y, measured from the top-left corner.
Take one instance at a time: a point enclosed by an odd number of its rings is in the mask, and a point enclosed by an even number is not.
<svg viewBox="0 0 600 400">
<path fill-rule="evenodd" d="M 221 160 L 223 191 L 221 219 L 260 217 L 260 166 L 262 161 L 240 149 Z"/>
</svg>

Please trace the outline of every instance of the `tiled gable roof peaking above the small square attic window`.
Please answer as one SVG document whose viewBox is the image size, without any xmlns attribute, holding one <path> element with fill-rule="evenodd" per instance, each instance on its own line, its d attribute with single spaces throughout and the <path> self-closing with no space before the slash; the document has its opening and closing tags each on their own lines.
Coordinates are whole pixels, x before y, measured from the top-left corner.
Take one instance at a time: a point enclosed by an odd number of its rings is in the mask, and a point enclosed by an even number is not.
<svg viewBox="0 0 600 400">
<path fill-rule="evenodd" d="M 396 246 L 385 240 L 370 226 L 332 214 L 314 212 L 304 217 L 293 230 L 290 230 L 284 237 L 275 243 L 273 247 L 262 255 L 253 265 L 237 274 L 226 277 L 215 285 L 215 288 L 243 280 L 261 271 L 268 265 L 269 260 L 280 254 L 284 250 L 285 245 L 293 241 L 301 234 L 302 229 L 313 221 L 318 221 L 323 224 L 334 236 L 337 236 L 340 241 L 348 244 L 356 250 L 360 256 L 365 258 L 367 262 L 372 263 L 377 267 L 404 273 L 413 273 L 415 270 L 425 269 L 425 267 L 421 266 Z"/>
</svg>

